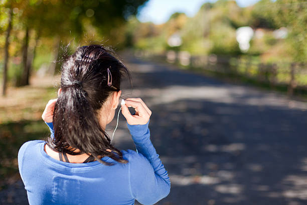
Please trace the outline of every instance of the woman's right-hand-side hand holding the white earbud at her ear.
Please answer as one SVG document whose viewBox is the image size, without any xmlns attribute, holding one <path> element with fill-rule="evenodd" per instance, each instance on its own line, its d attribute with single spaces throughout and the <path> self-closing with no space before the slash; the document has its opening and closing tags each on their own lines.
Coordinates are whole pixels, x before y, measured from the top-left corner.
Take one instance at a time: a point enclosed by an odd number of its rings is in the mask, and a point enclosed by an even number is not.
<svg viewBox="0 0 307 205">
<path fill-rule="evenodd" d="M 128 107 L 135 109 L 135 115 L 131 115 Z M 145 125 L 151 116 L 151 111 L 141 98 L 127 98 L 125 104 L 121 105 L 121 113 L 129 125 Z"/>
</svg>

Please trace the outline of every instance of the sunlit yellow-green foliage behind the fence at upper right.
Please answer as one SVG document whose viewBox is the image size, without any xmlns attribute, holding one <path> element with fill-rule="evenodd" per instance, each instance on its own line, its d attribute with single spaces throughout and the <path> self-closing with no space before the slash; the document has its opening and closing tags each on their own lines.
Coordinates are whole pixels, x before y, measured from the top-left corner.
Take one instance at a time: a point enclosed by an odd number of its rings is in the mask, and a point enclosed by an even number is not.
<svg viewBox="0 0 307 205">
<path fill-rule="evenodd" d="M 134 42 L 130 46 L 151 50 L 160 45 L 154 50 L 161 51 L 165 46 L 164 50 L 188 51 L 192 55 L 255 55 L 263 62 L 306 61 L 307 3 L 303 0 L 260 0 L 247 8 L 238 7 L 235 1 L 219 0 L 205 3 L 194 17 L 183 15 L 175 13 L 165 24 L 151 25 L 150 29 L 148 23 L 138 22 L 134 31 L 130 30 L 129 39 Z M 236 40 L 236 29 L 243 26 L 257 33 L 246 54 L 241 53 Z M 288 31 L 286 39 L 274 33 L 281 27 Z M 140 35 L 144 30 L 150 35 Z M 182 45 L 172 48 L 167 42 L 175 33 L 180 34 Z"/>
</svg>

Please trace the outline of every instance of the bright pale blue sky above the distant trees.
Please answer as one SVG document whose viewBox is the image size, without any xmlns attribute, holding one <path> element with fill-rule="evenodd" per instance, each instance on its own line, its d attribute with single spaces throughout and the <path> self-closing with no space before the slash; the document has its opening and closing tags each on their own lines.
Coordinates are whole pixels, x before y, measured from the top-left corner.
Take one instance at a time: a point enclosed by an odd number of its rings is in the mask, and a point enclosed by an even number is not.
<svg viewBox="0 0 307 205">
<path fill-rule="evenodd" d="M 240 7 L 247 7 L 259 0 L 236 0 Z M 139 11 L 137 19 L 140 22 L 151 21 L 155 24 L 163 24 L 169 20 L 175 12 L 184 12 L 193 17 L 200 7 L 206 2 L 214 0 L 149 0 Z"/>
</svg>

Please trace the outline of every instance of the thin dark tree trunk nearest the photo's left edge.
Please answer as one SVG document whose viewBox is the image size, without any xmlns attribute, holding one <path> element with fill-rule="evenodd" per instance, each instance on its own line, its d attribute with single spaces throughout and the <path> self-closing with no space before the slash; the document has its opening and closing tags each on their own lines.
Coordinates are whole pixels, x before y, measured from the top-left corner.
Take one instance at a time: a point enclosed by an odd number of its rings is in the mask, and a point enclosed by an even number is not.
<svg viewBox="0 0 307 205">
<path fill-rule="evenodd" d="M 13 9 L 10 9 L 9 13 L 9 25 L 7 28 L 7 36 L 6 36 L 6 45 L 5 45 L 5 59 L 4 59 L 4 69 L 3 69 L 3 90 L 2 95 L 5 96 L 7 94 L 7 75 L 8 75 L 8 64 L 9 64 L 9 38 L 12 30 L 12 18 L 13 18 Z"/>
</svg>

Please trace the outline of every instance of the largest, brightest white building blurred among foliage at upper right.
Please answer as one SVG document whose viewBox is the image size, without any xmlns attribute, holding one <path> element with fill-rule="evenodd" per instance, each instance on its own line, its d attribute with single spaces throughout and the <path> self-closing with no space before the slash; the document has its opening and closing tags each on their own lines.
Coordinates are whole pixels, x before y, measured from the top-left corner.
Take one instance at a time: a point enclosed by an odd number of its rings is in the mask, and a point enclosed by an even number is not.
<svg viewBox="0 0 307 205">
<path fill-rule="evenodd" d="M 240 27 L 236 31 L 236 39 L 242 52 L 247 52 L 250 45 L 249 41 L 254 35 L 254 31 L 249 26 Z"/>
</svg>

